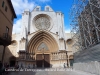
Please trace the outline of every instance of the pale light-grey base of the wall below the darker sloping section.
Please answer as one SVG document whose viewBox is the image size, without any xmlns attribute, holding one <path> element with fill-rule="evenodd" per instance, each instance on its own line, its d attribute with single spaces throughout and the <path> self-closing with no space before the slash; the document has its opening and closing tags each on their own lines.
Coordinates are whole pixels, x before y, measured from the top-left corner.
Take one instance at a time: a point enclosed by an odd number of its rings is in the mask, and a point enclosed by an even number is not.
<svg viewBox="0 0 100 75">
<path fill-rule="evenodd" d="M 100 62 L 97 61 L 91 61 L 87 63 L 74 63 L 73 67 L 75 70 L 81 70 L 100 75 Z"/>
</svg>

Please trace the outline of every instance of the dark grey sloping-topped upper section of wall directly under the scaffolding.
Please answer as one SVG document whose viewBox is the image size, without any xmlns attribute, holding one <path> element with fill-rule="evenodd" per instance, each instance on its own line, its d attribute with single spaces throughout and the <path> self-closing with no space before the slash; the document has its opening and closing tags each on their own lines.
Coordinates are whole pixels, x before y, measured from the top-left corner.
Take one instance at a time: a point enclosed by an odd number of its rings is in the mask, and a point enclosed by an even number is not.
<svg viewBox="0 0 100 75">
<path fill-rule="evenodd" d="M 74 53 L 74 62 L 100 61 L 100 44 Z"/>
</svg>

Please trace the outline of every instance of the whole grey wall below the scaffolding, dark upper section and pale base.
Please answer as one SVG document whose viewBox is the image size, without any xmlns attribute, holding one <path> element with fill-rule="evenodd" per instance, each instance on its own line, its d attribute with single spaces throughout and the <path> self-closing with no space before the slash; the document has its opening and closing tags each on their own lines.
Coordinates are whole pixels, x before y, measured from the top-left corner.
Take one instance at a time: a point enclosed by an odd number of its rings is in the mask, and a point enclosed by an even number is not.
<svg viewBox="0 0 100 75">
<path fill-rule="evenodd" d="M 100 75 L 100 44 L 75 53 L 73 68 Z"/>
</svg>

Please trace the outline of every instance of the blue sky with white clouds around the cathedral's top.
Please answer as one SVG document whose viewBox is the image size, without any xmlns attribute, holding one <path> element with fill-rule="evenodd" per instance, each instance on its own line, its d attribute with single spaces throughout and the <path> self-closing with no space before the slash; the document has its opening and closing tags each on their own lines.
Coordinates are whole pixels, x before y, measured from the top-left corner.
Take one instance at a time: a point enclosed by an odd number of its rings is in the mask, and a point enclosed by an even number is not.
<svg viewBox="0 0 100 75">
<path fill-rule="evenodd" d="M 65 32 L 70 32 L 70 20 L 69 12 L 73 4 L 73 0 L 11 0 L 14 6 L 17 18 L 14 20 L 13 34 L 20 33 L 21 30 L 21 17 L 25 9 L 32 11 L 34 7 L 40 5 L 44 8 L 45 5 L 49 5 L 56 11 L 64 13 Z"/>
</svg>

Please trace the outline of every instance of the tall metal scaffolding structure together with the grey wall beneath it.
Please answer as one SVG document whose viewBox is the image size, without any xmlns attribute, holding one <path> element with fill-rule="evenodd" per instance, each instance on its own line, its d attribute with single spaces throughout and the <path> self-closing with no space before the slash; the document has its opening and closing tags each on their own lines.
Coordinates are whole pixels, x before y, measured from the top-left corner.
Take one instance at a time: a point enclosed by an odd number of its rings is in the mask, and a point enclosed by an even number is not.
<svg viewBox="0 0 100 75">
<path fill-rule="evenodd" d="M 74 0 L 70 15 L 74 68 L 100 74 L 100 0 Z"/>
</svg>

